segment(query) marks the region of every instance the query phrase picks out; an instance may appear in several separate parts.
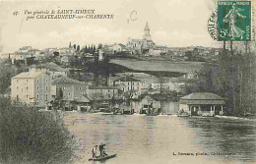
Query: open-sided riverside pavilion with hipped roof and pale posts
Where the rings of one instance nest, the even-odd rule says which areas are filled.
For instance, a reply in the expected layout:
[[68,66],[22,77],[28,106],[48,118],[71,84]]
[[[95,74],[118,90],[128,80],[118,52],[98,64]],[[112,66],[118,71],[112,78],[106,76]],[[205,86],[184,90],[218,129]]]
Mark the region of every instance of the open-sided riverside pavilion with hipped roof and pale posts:
[[179,101],[179,115],[215,116],[224,114],[224,98],[211,92],[194,92]]

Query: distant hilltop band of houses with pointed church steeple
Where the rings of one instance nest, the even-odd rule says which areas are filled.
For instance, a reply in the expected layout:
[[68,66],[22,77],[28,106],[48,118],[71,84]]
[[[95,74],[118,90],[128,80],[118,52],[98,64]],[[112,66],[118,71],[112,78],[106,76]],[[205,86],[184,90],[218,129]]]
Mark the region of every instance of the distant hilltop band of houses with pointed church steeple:
[[218,59],[220,48],[189,46],[189,47],[167,47],[158,45],[154,42],[150,34],[148,23],[144,28],[143,38],[128,38],[127,43],[113,44],[87,44],[83,47],[77,44],[69,43],[68,47],[54,47],[45,49],[34,49],[32,46],[25,46],[13,53],[1,54],[1,59],[11,59],[12,64],[31,64],[43,63],[47,60],[53,60],[61,65],[70,65],[74,58],[87,58],[101,61],[105,56],[109,58],[136,58],[150,59],[157,57],[168,59],[169,61],[215,61]]

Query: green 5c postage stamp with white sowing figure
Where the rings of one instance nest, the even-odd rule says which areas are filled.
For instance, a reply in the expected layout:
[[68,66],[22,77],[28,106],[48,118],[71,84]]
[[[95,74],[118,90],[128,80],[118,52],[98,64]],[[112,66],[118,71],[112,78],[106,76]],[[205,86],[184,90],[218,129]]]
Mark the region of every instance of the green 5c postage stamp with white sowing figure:
[[219,1],[218,2],[219,41],[251,40],[251,2]]

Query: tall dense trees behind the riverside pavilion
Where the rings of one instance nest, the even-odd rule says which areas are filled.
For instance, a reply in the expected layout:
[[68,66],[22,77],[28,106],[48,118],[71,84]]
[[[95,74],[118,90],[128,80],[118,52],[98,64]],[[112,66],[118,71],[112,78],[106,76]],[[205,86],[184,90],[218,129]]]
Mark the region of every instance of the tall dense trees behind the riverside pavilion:
[[228,51],[220,53],[215,63],[206,63],[199,81],[187,86],[187,94],[209,91],[224,97],[229,115],[256,113],[255,52]]

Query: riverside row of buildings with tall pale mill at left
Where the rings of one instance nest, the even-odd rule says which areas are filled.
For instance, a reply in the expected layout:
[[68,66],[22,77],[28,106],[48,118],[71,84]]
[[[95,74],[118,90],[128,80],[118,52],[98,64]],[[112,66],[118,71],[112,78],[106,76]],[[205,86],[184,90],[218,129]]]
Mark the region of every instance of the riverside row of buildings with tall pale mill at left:
[[69,78],[67,69],[51,62],[32,65],[28,72],[14,76],[10,87],[13,99],[38,108],[90,111],[96,110],[103,102],[120,108],[126,100],[139,101],[145,95],[154,97],[163,90],[178,93],[182,84],[166,80],[160,82],[144,73],[119,73],[109,77],[107,85],[95,85],[94,82]]

